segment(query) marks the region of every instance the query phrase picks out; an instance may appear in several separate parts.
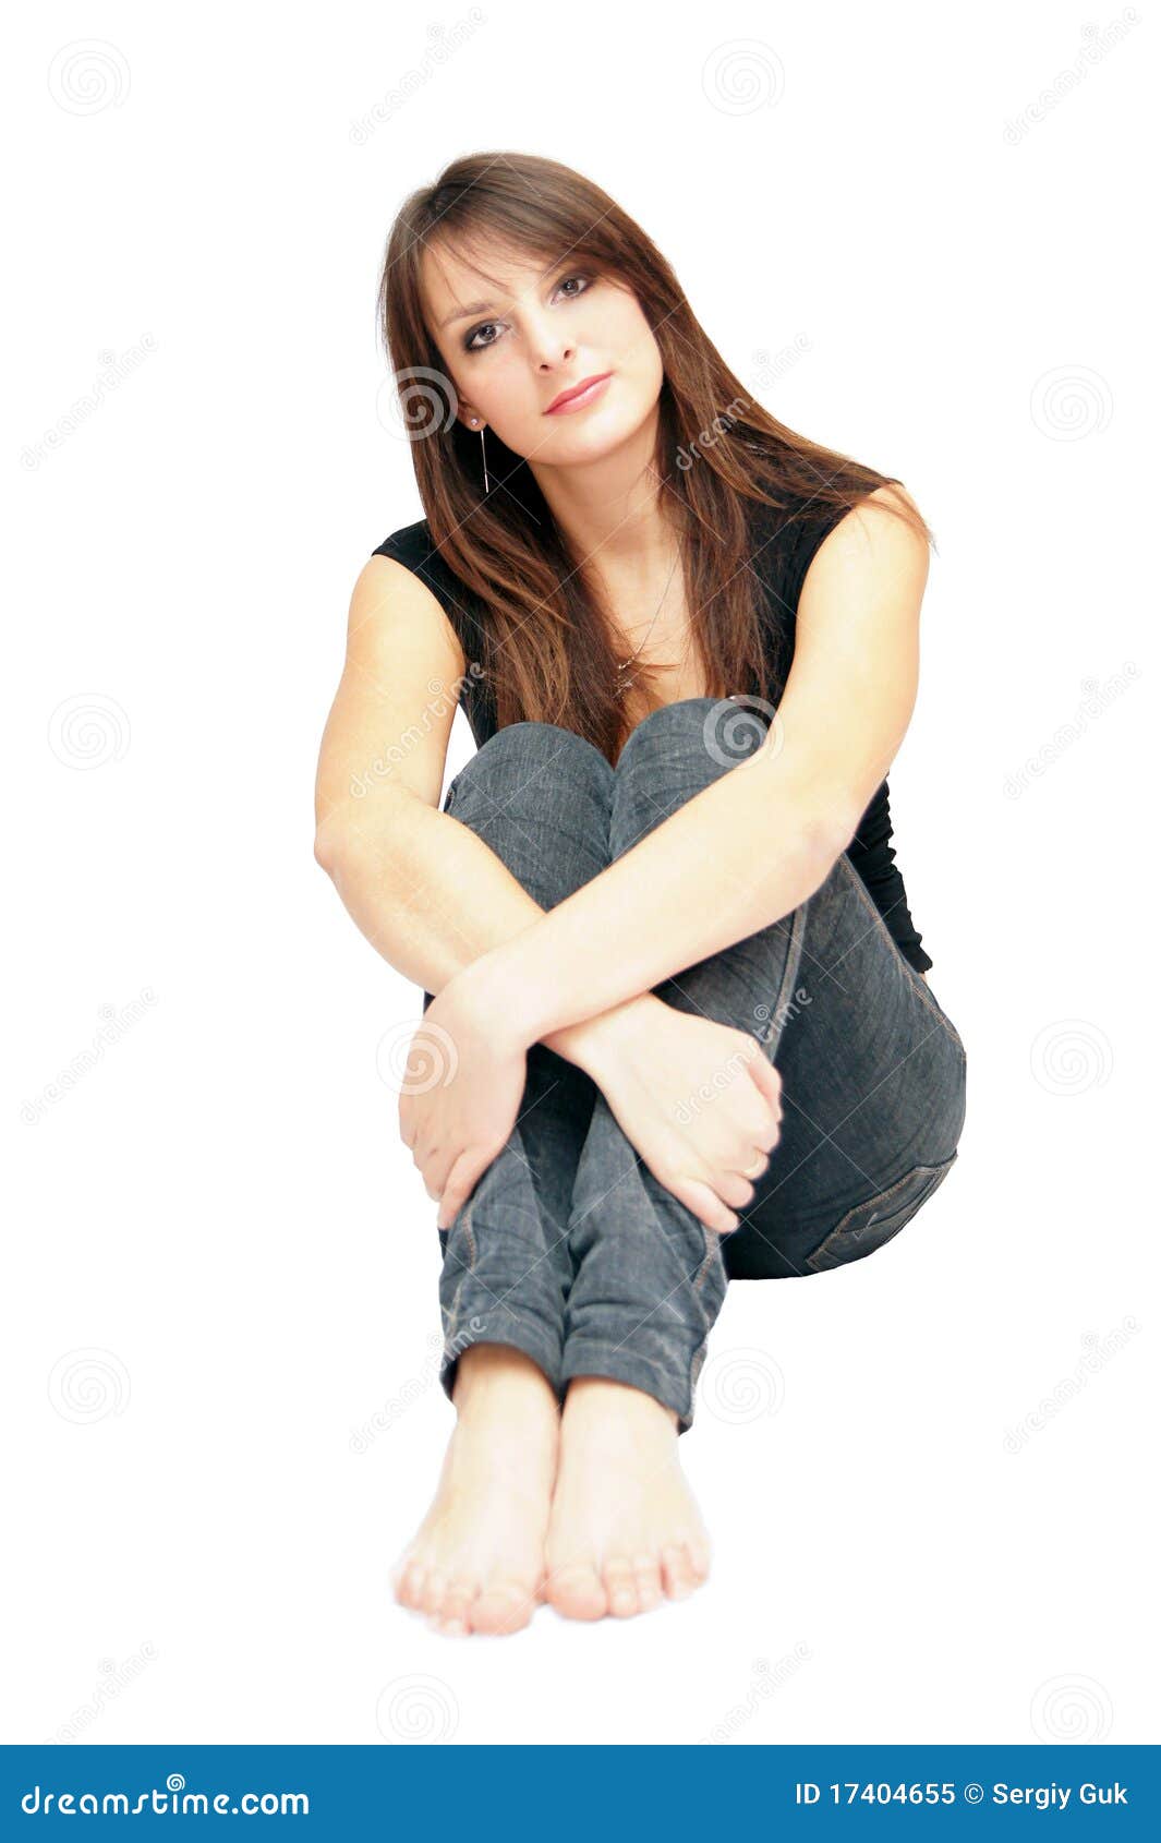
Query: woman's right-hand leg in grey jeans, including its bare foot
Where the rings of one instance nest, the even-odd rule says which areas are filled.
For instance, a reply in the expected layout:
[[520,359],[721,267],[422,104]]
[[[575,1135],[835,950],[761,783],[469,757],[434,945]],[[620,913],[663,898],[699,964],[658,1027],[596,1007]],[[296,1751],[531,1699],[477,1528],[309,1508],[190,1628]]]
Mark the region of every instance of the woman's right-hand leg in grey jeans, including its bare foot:
[[[739,759],[763,734],[733,730]],[[617,763],[610,857],[733,767],[721,741],[711,698],[665,706],[634,730]],[[781,1272],[791,1246],[805,1268],[789,1272],[872,1251],[942,1181],[964,1119],[962,1045],[846,855],[791,916],[654,990],[763,1043],[794,1133],[783,1119],[741,1227],[722,1238],[656,1183],[595,1098],[573,1187],[562,1366],[573,1382],[547,1548],[547,1594],[579,1618],[645,1609],[658,1557],[671,1592],[708,1570],[674,1449],[732,1251],[750,1277]]]

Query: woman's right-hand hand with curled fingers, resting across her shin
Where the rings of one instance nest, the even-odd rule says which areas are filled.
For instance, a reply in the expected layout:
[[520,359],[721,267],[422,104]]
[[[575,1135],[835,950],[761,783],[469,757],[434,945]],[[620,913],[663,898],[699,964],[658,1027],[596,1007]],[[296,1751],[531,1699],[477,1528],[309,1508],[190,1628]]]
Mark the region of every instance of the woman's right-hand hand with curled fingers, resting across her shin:
[[654,1178],[708,1229],[735,1229],[781,1135],[781,1076],[761,1043],[647,993],[593,1019],[575,1060]]

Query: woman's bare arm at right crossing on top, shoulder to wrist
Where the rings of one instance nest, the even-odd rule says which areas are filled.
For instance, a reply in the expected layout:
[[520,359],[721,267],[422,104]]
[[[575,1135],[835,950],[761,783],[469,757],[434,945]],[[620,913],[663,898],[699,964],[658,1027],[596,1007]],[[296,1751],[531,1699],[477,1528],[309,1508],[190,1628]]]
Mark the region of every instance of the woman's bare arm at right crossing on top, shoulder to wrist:
[[875,503],[892,490],[818,547],[763,746],[444,988],[512,1049],[649,992],[826,881],[916,702],[927,544]]

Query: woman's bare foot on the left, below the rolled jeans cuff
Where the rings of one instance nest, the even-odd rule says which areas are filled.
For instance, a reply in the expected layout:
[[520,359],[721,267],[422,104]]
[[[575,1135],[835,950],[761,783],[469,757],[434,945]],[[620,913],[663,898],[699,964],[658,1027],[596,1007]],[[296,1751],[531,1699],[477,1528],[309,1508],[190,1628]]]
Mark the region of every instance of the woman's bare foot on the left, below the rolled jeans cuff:
[[442,1633],[510,1633],[544,1598],[560,1403],[523,1351],[474,1344],[431,1509],[398,1557],[394,1598]]

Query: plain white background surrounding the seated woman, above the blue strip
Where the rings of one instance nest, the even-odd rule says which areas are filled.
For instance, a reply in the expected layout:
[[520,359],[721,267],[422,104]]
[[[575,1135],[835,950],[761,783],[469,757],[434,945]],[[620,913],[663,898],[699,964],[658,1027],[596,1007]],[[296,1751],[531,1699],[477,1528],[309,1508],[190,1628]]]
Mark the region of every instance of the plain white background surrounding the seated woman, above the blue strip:
[[[1043,4],[20,22],[6,1740],[1154,1738],[1154,48]],[[505,147],[610,190],[743,380],[805,335],[767,407],[934,527],[890,780],[969,1113],[894,1246],[732,1288],[710,1585],[448,1640],[387,1581],[452,1426],[376,1062],[420,993],[313,776],[420,516],[387,229]]]

